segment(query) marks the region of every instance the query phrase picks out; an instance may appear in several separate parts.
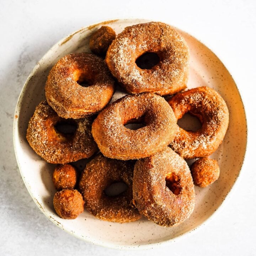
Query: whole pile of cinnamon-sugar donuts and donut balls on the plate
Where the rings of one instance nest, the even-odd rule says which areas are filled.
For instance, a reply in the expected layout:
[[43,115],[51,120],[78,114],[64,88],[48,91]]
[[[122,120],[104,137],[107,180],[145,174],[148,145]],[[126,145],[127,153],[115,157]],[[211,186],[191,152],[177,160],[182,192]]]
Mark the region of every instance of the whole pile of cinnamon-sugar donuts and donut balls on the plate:
[[[144,215],[176,226],[193,212],[194,185],[206,187],[219,177],[218,162],[208,156],[228,128],[226,103],[209,87],[185,90],[188,46],[165,23],[133,25],[117,36],[103,26],[92,34],[90,49],[53,66],[46,100],[28,123],[28,143],[57,164],[55,211],[75,219],[85,207],[111,222]],[[109,103],[117,85],[127,95]],[[187,112],[202,124],[195,132],[177,125]],[[61,130],[63,125],[71,130]],[[73,162],[86,158],[79,173]],[[198,160],[189,168],[187,159]],[[117,182],[126,190],[108,195],[106,189]]]

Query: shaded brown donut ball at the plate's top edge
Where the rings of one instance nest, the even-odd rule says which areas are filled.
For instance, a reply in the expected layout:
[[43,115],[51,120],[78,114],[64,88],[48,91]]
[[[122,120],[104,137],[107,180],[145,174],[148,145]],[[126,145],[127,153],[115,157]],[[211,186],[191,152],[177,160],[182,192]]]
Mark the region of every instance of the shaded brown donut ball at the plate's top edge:
[[90,49],[97,55],[105,55],[108,47],[116,38],[116,33],[111,27],[102,26],[90,38]]

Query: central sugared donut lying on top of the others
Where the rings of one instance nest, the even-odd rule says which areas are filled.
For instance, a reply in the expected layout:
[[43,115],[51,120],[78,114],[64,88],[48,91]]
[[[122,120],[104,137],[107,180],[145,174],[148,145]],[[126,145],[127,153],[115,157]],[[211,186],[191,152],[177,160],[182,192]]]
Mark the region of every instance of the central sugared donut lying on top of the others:
[[[127,123],[144,122],[137,130]],[[142,93],[126,95],[102,110],[92,124],[92,136],[108,158],[139,159],[163,150],[174,139],[174,113],[161,96]]]

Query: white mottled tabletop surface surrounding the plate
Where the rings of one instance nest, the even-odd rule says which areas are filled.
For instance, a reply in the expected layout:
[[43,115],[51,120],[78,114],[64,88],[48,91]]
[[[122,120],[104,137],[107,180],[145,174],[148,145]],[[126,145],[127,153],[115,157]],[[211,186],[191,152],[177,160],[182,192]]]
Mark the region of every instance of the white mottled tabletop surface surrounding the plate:
[[[128,3],[129,2],[129,3]],[[251,1],[1,1],[0,8],[0,255],[255,255],[256,175],[255,31]],[[12,122],[21,88],[43,54],[59,39],[102,20],[161,20],[196,36],[230,70],[249,126],[238,186],[213,220],[192,235],[149,251],[115,251],[80,241],[50,222],[18,172]]]

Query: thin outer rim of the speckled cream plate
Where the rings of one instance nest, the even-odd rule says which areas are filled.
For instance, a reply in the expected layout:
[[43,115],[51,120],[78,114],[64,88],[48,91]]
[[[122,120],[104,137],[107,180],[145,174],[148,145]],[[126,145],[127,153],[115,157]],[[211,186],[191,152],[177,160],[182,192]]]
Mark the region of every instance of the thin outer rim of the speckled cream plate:
[[[31,73],[28,75],[24,85],[22,86],[22,89],[21,89],[21,92],[20,92],[20,95],[18,96],[18,100],[17,100],[17,104],[16,104],[16,107],[15,107],[15,113],[14,113],[14,122],[13,122],[13,129],[12,129],[12,135],[13,135],[13,144],[14,144],[14,152],[15,152],[15,158],[16,158],[16,161],[17,161],[17,165],[18,165],[18,172],[20,173],[21,177],[22,177],[22,180],[27,188],[27,191],[28,193],[30,194],[30,196],[32,197],[34,203],[36,203],[37,207],[41,210],[41,212],[47,217],[47,219],[51,220],[51,222],[53,222],[55,225],[57,225],[59,228],[63,229],[66,233],[82,240],[82,241],[86,241],[86,242],[90,242],[91,244],[94,244],[94,245],[99,245],[99,246],[103,246],[103,247],[108,247],[108,248],[111,248],[111,249],[118,249],[118,250],[143,250],[143,249],[152,249],[153,247],[156,247],[156,246],[163,246],[163,245],[166,245],[166,244],[170,244],[170,243],[173,243],[173,242],[177,242],[177,241],[180,241],[181,239],[185,238],[185,236],[189,236],[191,235],[192,233],[198,231],[199,229],[201,229],[207,222],[210,222],[214,216],[216,216],[217,214],[220,213],[220,211],[223,209],[224,207],[224,202],[228,202],[228,200],[230,199],[230,195],[231,195],[231,192],[234,192],[236,190],[236,188],[238,187],[238,181],[240,181],[240,176],[241,174],[244,173],[244,164],[245,162],[247,161],[247,146],[248,146],[248,123],[247,123],[247,110],[246,110],[246,107],[244,105],[244,102],[242,101],[242,94],[234,80],[234,76],[230,73],[229,69],[227,68],[228,65],[226,65],[226,63],[224,63],[222,61],[221,58],[219,58],[219,55],[215,54],[216,51],[213,51],[212,50],[212,46],[208,47],[208,44],[204,43],[201,39],[197,39],[197,37],[194,36],[193,33],[191,32],[187,32],[187,31],[184,31],[184,30],[181,30],[180,28],[177,28],[176,26],[173,26],[175,28],[177,28],[178,30],[184,32],[184,33],[187,33],[189,34],[191,37],[195,38],[196,40],[198,40],[200,43],[202,43],[205,47],[207,47],[211,52],[213,52],[217,58],[220,60],[220,62],[222,62],[222,64],[224,65],[224,67],[226,68],[226,70],[228,71],[228,73],[230,74],[231,78],[233,79],[234,81],[234,84],[236,86],[236,89],[238,90],[238,93],[239,93],[239,96],[240,96],[240,101],[242,103],[242,107],[243,107],[243,110],[244,110],[244,114],[245,114],[245,134],[246,134],[246,143],[245,143],[245,153],[244,153],[244,156],[243,156],[243,159],[242,159],[242,162],[241,162],[241,169],[239,171],[239,174],[238,176],[236,176],[235,178],[235,181],[233,183],[233,186],[230,188],[229,192],[226,194],[224,200],[221,202],[221,204],[218,206],[217,209],[215,209],[215,211],[206,219],[204,220],[201,224],[199,224],[196,228],[190,230],[190,231],[187,231],[185,233],[182,233],[178,236],[176,236],[175,238],[172,238],[172,239],[169,239],[169,240],[164,240],[164,241],[160,241],[160,242],[152,242],[150,244],[143,244],[143,245],[116,245],[114,243],[111,243],[111,242],[101,242],[100,240],[95,240],[95,239],[92,239],[92,238],[83,238],[79,235],[77,235],[76,233],[74,234],[73,232],[71,232],[71,230],[68,230],[68,229],[64,229],[62,226],[60,226],[57,222],[57,220],[55,220],[52,216],[48,216],[47,213],[43,210],[42,206],[40,205],[40,203],[37,201],[37,199],[32,195],[31,191],[30,191],[30,188],[28,187],[28,184],[26,183],[25,181],[25,177],[23,177],[22,175],[22,171],[21,171],[21,166],[20,166],[20,162],[18,161],[18,155],[17,155],[17,150],[16,150],[16,144],[18,142],[18,138],[16,138],[16,130],[18,129],[17,125],[18,125],[18,118],[16,118],[16,115],[20,112],[20,103],[22,102],[22,99],[23,99],[23,91],[25,90],[27,84],[28,84],[28,81],[31,79],[31,77],[33,76],[34,72],[37,70],[37,68],[40,66],[40,61],[55,47],[57,46],[58,44],[62,44],[62,43],[65,43],[67,41],[69,41],[69,39],[71,39],[74,34],[76,33],[79,33],[80,31],[84,31],[85,29],[88,29],[90,27],[96,27],[96,26],[99,26],[101,25],[102,23],[106,23],[106,24],[109,24],[109,23],[113,23],[113,22],[117,22],[117,21],[137,21],[139,20],[140,23],[142,22],[149,22],[149,21],[155,21],[154,19],[144,19],[144,18],[117,18],[117,19],[114,19],[114,20],[103,20],[103,21],[100,21],[100,22],[95,22],[95,23],[92,23],[91,25],[88,25],[88,26],[84,26],[84,27],[81,27],[79,28],[78,30],[68,34],[67,36],[63,37],[62,39],[60,39],[58,42],[54,43],[52,47],[50,47],[47,52],[39,59],[39,61],[37,62],[37,64],[34,66],[34,68],[32,69]],[[158,20],[159,22],[159,20]],[[165,22],[166,23],[166,22]]]

